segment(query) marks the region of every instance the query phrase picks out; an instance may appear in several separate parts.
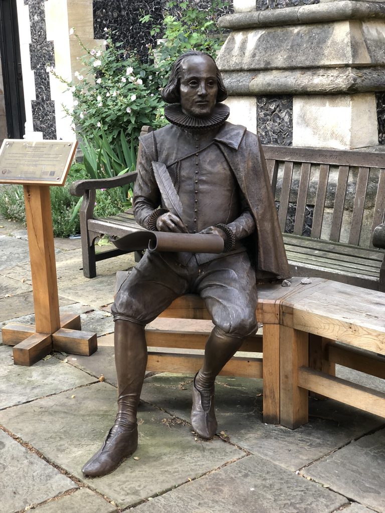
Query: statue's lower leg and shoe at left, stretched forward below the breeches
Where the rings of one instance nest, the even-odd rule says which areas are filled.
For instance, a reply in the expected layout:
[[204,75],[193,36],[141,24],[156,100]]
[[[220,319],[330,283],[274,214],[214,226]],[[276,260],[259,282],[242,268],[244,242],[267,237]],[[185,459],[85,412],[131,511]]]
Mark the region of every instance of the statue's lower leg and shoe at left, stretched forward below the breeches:
[[147,365],[144,327],[130,321],[115,321],[114,344],[118,414],[101,449],[82,468],[89,477],[112,472],[138,447],[137,409]]

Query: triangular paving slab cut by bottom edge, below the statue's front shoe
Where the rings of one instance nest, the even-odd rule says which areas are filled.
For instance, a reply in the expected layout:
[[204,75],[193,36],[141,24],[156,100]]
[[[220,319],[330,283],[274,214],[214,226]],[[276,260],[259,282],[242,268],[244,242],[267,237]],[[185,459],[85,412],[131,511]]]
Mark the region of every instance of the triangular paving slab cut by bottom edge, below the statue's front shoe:
[[115,513],[117,508],[95,492],[81,488],[71,495],[38,506],[34,511],[36,513]]

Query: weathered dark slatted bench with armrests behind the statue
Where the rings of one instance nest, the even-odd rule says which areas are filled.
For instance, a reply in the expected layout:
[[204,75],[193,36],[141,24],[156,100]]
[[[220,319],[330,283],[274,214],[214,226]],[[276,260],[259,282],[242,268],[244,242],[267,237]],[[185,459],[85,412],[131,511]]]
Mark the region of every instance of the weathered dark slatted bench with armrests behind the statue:
[[[293,275],[385,291],[385,234],[377,238],[382,249],[372,244],[373,230],[384,221],[385,153],[282,146],[263,150]],[[123,253],[113,249],[95,255],[98,236],[143,229],[130,211],[93,218],[95,189],[133,183],[136,177],[133,172],[71,185],[72,194],[84,195],[80,220],[83,272],[88,278],[96,275],[97,261]]]

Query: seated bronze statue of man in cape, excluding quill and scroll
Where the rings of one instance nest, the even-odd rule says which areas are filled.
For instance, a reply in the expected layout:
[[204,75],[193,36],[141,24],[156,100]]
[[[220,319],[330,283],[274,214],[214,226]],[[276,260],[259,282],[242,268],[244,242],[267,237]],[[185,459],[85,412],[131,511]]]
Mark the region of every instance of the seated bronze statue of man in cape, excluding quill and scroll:
[[[215,378],[257,329],[256,278],[290,275],[261,145],[243,126],[226,122],[229,109],[220,102],[227,92],[213,58],[196,51],[181,55],[162,96],[170,104],[170,124],[141,138],[135,218],[149,230],[220,235],[224,251],[146,251],[120,287],[111,308],[118,414],[102,448],[82,469],[90,477],[112,472],[137,448],[145,325],[182,294],[204,298],[215,327],[192,385],[191,424],[201,437],[213,438]],[[164,208],[153,163],[166,165],[183,206],[181,218]]]

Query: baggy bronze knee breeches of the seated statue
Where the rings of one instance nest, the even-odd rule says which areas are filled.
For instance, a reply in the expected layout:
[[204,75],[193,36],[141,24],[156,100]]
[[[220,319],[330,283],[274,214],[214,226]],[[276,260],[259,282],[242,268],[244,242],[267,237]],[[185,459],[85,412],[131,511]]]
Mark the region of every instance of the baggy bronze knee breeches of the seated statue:
[[121,285],[111,312],[114,319],[146,325],[175,299],[197,293],[213,323],[225,333],[245,337],[257,330],[255,271],[246,252],[182,265],[173,253],[145,253]]

